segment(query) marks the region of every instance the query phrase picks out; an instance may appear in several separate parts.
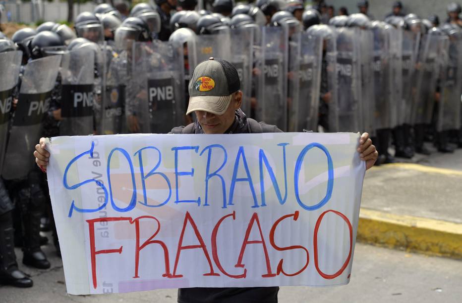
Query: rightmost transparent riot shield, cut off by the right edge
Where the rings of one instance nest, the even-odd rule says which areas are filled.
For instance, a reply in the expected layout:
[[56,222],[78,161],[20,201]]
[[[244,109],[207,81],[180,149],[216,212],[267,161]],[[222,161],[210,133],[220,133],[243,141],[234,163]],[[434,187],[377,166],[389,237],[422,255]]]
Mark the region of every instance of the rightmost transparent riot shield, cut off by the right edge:
[[448,53],[442,56],[440,101],[437,130],[459,130],[461,128],[462,93],[462,32],[449,36]]

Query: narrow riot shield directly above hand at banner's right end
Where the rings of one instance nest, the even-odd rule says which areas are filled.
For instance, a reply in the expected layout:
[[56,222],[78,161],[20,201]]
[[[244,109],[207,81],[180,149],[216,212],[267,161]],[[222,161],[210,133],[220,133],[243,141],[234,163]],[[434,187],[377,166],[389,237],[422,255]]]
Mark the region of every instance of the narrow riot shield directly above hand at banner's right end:
[[359,46],[359,61],[361,64],[361,94],[360,94],[360,109],[361,123],[360,131],[367,131],[370,135],[375,135],[373,126],[373,117],[375,113],[374,102],[374,34],[369,29],[355,28],[356,39]]

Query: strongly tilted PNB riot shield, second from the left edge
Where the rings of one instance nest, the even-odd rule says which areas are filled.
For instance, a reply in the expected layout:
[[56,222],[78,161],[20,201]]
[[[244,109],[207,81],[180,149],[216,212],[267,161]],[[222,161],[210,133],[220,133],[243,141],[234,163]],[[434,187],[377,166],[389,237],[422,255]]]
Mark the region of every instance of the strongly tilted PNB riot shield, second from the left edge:
[[35,165],[31,155],[42,133],[60,62],[61,56],[56,55],[25,66],[1,173],[4,179],[24,178]]

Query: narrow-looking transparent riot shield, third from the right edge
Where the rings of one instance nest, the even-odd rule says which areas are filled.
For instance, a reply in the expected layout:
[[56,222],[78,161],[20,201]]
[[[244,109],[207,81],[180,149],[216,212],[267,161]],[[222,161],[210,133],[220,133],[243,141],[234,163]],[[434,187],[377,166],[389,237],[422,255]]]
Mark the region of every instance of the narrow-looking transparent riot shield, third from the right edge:
[[412,99],[416,93],[416,63],[420,34],[402,32],[402,101],[398,108],[398,124],[412,124]]

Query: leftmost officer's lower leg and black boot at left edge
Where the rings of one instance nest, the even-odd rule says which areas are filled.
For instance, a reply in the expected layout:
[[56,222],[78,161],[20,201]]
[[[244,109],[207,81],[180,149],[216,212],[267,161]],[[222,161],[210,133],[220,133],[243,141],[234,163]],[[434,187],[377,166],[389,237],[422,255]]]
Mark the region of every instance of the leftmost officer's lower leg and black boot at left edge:
[[0,215],[0,284],[32,287],[32,280],[18,269],[13,234],[11,212]]

